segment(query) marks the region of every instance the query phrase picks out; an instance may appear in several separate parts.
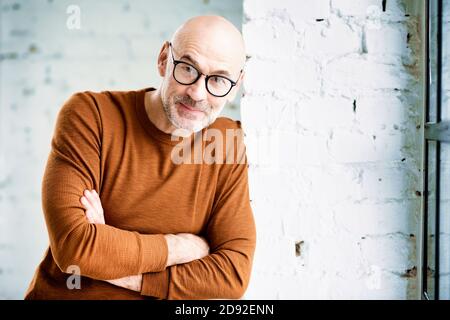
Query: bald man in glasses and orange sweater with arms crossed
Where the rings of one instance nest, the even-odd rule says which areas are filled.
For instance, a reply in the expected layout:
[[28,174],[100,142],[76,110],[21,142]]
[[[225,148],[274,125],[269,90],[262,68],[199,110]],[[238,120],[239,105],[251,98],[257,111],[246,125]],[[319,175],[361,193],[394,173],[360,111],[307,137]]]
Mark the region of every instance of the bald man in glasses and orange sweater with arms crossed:
[[42,184],[50,246],[26,299],[244,294],[256,232],[242,142],[218,144],[214,163],[174,161],[180,141],[200,141],[204,154],[207,132],[240,130],[218,115],[244,62],[230,22],[196,17],[163,44],[157,90],[83,92],[64,104]]

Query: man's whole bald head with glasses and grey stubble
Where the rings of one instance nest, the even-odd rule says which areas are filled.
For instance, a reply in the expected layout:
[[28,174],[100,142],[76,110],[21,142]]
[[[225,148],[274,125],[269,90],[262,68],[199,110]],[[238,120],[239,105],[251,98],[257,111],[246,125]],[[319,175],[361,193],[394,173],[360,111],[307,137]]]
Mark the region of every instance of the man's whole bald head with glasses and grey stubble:
[[225,18],[199,16],[179,27],[171,44],[165,41],[158,55],[163,79],[153,97],[162,107],[149,117],[164,132],[198,132],[236,97],[245,75],[244,40]]

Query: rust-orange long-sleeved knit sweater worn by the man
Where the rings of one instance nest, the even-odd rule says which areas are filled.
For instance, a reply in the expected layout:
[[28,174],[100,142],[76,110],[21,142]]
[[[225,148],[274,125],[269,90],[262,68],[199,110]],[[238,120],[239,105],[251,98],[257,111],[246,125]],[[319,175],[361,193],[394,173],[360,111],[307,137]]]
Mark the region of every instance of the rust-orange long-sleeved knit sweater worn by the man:
[[[174,164],[178,141],[149,120],[148,90],[77,93],[60,110],[42,182],[50,246],[26,299],[228,299],[245,292],[256,244],[245,153],[237,164]],[[225,132],[240,123],[218,118],[210,128]],[[85,189],[99,193],[105,225],[87,221]],[[210,254],[165,268],[163,234],[181,232],[204,236]],[[71,265],[80,268],[81,289],[67,287]],[[143,274],[140,293],[102,281],[136,274]]]

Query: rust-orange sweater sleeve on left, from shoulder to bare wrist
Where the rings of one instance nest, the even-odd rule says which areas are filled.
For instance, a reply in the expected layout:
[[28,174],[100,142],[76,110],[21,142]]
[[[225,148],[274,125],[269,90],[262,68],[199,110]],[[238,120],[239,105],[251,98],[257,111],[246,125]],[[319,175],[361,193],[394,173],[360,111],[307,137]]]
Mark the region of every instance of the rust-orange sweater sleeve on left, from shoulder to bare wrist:
[[91,224],[80,197],[100,190],[102,121],[94,96],[77,93],[59,111],[42,182],[42,208],[50,248],[63,272],[76,265],[99,280],[165,270],[162,234],[139,234]]

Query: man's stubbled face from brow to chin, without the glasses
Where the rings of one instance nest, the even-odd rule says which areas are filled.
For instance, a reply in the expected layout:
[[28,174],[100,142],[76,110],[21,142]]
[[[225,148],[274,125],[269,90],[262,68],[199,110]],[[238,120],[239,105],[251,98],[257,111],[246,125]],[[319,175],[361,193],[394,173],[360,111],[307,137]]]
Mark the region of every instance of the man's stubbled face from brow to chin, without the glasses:
[[[166,49],[167,51],[173,50],[173,52],[167,54],[166,57],[167,68],[161,90],[164,112],[168,120],[176,128],[188,130],[190,132],[200,131],[213,123],[219,116],[226,102],[231,101],[234,98],[237,81],[231,80],[230,72],[227,71],[226,68],[221,68],[222,70],[217,71],[217,73],[214,72],[214,75],[224,76],[231,80],[230,92],[224,97],[216,97],[206,88],[205,79],[208,77],[209,83],[212,83],[212,81],[216,81],[217,78],[205,76],[204,72],[201,70],[218,70],[217,68],[208,68],[208,66],[214,65],[217,61],[208,59],[199,52],[200,50],[186,50],[184,55],[180,55],[181,53],[171,49],[171,46],[167,46]],[[206,67],[202,68],[200,66],[200,61],[202,61]],[[177,63],[180,62],[192,66],[192,72],[198,72],[197,81],[186,85],[181,84],[179,82],[180,79],[174,78],[174,68],[180,68],[180,65],[177,66]],[[240,75],[241,73],[238,75],[239,78]],[[210,90],[211,88],[212,87],[210,87]]]

